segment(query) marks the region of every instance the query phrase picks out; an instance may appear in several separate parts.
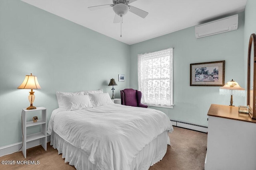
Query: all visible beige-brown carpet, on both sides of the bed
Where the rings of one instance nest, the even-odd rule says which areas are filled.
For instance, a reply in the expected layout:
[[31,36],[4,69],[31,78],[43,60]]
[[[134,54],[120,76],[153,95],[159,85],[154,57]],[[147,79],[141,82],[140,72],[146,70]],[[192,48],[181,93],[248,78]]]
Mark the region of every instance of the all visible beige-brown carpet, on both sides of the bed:
[[[171,146],[168,146],[164,158],[150,167],[150,170],[204,170],[207,135],[197,131],[174,127],[169,133]],[[27,158],[22,152],[0,157],[0,161],[24,160],[39,161],[39,164],[30,165],[2,165],[0,170],[74,170],[74,166],[65,164],[62,154],[47,144],[47,151],[41,146],[27,149]]]

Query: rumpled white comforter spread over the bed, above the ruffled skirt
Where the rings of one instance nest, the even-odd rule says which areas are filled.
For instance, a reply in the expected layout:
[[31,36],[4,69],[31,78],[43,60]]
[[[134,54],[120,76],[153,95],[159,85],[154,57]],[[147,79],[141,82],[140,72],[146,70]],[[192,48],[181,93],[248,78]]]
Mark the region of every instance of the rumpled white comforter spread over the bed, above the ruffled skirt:
[[48,133],[83,150],[100,170],[127,170],[133,158],[164,131],[172,132],[161,111],[119,104],[52,112]]

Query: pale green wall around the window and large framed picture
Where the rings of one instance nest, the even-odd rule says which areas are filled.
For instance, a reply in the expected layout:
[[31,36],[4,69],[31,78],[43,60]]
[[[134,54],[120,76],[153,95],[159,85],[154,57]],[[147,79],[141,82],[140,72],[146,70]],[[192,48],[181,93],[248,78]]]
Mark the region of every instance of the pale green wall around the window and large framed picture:
[[[235,31],[196,39],[193,26],[130,45],[130,88],[138,88],[138,54],[174,47],[174,109],[153,108],[163,111],[170,119],[207,126],[210,105],[228,105],[230,96],[219,95],[220,87],[190,86],[190,64],[225,60],[225,82],[234,79],[245,88],[244,12],[238,18]],[[235,106],[245,104],[244,97],[233,96],[233,100]]]

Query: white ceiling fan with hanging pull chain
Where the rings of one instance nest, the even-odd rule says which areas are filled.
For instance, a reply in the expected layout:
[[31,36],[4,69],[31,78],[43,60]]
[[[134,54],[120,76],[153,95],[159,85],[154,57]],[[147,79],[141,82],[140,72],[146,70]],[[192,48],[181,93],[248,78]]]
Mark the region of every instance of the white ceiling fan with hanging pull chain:
[[[89,10],[98,10],[105,7],[113,7],[114,12],[116,13],[114,17],[113,23],[119,23],[121,21],[121,32],[122,32],[122,20],[123,16],[128,12],[132,12],[141,18],[145,18],[148,15],[148,12],[136,8],[134,6],[129,5],[130,3],[137,1],[137,0],[113,0],[113,4],[106,4],[106,5],[99,5],[99,6],[90,6],[88,7]],[[122,37],[122,33],[120,35]]]

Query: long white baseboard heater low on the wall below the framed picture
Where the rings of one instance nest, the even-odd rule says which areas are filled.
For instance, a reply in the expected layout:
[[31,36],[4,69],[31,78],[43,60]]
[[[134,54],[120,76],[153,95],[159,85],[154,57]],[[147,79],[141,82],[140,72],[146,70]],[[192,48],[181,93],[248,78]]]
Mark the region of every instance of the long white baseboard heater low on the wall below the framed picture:
[[173,126],[183,127],[186,129],[191,129],[194,131],[200,131],[200,132],[204,132],[204,133],[206,133],[208,131],[207,126],[198,125],[198,124],[194,124],[194,123],[188,123],[185,121],[178,121],[178,120],[174,120],[174,119],[170,119],[170,121],[172,122]]

